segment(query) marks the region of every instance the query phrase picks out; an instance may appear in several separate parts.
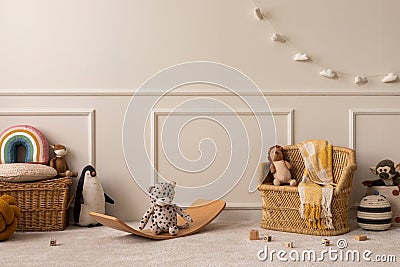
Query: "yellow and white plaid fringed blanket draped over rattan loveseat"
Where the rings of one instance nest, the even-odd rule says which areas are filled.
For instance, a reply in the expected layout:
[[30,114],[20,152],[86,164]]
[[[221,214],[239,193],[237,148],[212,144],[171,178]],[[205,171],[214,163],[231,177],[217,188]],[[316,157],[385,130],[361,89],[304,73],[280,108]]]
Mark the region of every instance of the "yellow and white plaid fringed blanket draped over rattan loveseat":
[[299,143],[305,170],[299,184],[300,215],[313,229],[333,229],[331,202],[333,195],[332,145],[326,140]]

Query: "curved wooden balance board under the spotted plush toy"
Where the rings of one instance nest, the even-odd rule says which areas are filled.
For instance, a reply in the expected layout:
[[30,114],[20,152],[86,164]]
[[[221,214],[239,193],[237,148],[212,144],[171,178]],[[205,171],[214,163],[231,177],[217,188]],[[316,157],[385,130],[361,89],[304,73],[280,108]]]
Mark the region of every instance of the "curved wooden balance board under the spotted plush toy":
[[[90,216],[92,216],[97,222],[101,223],[102,225],[106,225],[119,231],[150,239],[163,240],[197,233],[205,226],[207,226],[210,222],[212,222],[225,208],[225,205],[226,203],[223,200],[196,200],[190,205],[190,207],[185,210],[186,213],[189,214],[190,217],[192,217],[193,222],[190,223],[187,228],[179,229],[179,233],[174,236],[170,235],[169,233],[161,233],[156,235],[152,233],[150,229],[136,230],[116,217],[104,215],[101,213],[91,212]],[[183,225],[184,223],[185,220],[178,215],[178,225]]]

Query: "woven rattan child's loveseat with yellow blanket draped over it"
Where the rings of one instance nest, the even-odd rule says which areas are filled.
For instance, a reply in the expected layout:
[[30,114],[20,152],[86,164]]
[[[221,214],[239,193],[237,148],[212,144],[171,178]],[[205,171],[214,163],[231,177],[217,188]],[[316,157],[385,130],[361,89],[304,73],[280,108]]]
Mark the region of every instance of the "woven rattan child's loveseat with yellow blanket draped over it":
[[[297,146],[284,146],[284,157],[292,164],[292,177],[300,182],[304,172],[304,162]],[[261,163],[260,177],[265,177],[265,166]],[[291,186],[274,186],[268,180],[258,190],[262,197],[261,227],[270,230],[293,232],[309,235],[332,236],[350,231],[348,222],[349,197],[352,179],[356,170],[355,152],[349,148],[333,147],[333,176],[337,183],[332,198],[333,230],[311,229],[300,217],[300,197],[298,188]]]

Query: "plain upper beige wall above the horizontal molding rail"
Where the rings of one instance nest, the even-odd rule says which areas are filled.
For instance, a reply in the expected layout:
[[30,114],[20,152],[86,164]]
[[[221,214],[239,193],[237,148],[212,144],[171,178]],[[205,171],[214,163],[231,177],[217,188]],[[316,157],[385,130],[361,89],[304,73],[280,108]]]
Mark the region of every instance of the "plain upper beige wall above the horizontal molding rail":
[[248,74],[265,90],[388,90],[371,79],[329,81],[296,52],[354,74],[400,71],[396,0],[258,0],[301,51],[270,41],[250,0],[0,1],[0,85],[8,89],[138,88],[173,64],[211,60]]

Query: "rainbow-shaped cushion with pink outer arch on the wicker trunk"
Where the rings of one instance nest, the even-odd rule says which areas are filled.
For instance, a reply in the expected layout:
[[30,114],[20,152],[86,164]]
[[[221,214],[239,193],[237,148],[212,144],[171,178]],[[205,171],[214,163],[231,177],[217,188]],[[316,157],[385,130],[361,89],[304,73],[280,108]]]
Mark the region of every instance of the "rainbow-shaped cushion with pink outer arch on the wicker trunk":
[[0,134],[0,164],[16,163],[20,146],[25,147],[25,162],[47,164],[49,162],[49,144],[46,137],[29,125],[16,125]]

